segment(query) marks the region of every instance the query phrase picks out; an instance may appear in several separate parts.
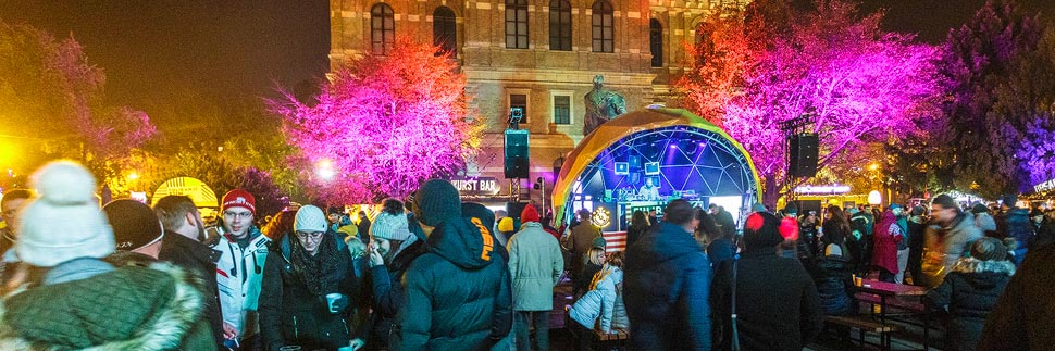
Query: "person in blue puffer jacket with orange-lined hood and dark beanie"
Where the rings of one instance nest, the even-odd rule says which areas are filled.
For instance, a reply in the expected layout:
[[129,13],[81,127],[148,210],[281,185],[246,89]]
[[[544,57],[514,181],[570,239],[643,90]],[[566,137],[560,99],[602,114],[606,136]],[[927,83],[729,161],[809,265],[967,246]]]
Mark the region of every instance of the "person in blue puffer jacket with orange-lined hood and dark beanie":
[[405,302],[396,316],[401,349],[487,350],[512,325],[509,271],[494,252],[494,236],[462,217],[449,181],[425,181],[414,198],[427,251],[404,278]]

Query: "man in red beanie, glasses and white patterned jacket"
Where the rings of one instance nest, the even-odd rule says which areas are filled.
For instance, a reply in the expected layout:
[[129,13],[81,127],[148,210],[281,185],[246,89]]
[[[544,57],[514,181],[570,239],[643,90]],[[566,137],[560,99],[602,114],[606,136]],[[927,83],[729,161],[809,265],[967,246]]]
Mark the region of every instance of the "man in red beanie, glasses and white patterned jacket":
[[257,200],[248,191],[234,189],[224,195],[220,215],[223,234],[213,249],[221,252],[216,290],[226,344],[236,351],[260,350],[257,300],[270,240],[253,225]]

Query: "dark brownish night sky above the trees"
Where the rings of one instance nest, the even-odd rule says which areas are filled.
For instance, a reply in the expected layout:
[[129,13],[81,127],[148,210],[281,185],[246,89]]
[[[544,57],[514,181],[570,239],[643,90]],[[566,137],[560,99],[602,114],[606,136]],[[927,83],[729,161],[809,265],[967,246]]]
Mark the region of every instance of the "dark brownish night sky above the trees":
[[[618,1],[618,0],[617,0]],[[866,0],[886,8],[888,29],[939,42],[984,0]],[[1022,0],[1055,13],[1055,0]],[[218,101],[274,96],[328,68],[327,0],[0,1],[0,18],[73,35],[107,73],[111,102],[136,106],[177,89]],[[150,111],[147,111],[148,113]]]

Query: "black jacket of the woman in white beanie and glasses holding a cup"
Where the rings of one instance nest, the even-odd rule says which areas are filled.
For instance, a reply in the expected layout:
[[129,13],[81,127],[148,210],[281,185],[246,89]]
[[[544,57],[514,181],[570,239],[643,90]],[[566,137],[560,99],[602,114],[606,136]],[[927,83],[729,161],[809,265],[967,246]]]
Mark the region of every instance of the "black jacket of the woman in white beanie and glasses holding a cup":
[[[290,262],[289,240],[297,240],[295,236],[287,235],[269,243],[258,306],[265,350],[277,351],[287,344],[301,346],[305,350],[336,350],[358,337],[349,330],[352,309],[331,314],[325,297],[332,292],[344,293],[348,299],[359,297],[351,254],[337,243],[342,239],[335,238],[333,233],[326,233],[323,238],[320,250],[322,246],[335,246],[337,259],[333,265],[321,267],[322,275],[337,281],[337,291],[319,296],[310,292],[302,273],[297,272]],[[349,301],[349,305],[355,304],[356,301]]]

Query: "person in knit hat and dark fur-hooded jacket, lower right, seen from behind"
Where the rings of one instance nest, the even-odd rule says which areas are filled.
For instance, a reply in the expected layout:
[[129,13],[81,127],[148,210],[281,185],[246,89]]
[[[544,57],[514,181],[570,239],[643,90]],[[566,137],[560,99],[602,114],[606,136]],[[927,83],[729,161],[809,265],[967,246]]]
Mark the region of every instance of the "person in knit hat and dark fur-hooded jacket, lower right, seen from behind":
[[951,317],[945,328],[948,350],[976,349],[985,318],[1015,274],[1007,247],[1000,239],[978,239],[970,252],[969,258],[956,261],[942,285],[927,293],[931,308]]

